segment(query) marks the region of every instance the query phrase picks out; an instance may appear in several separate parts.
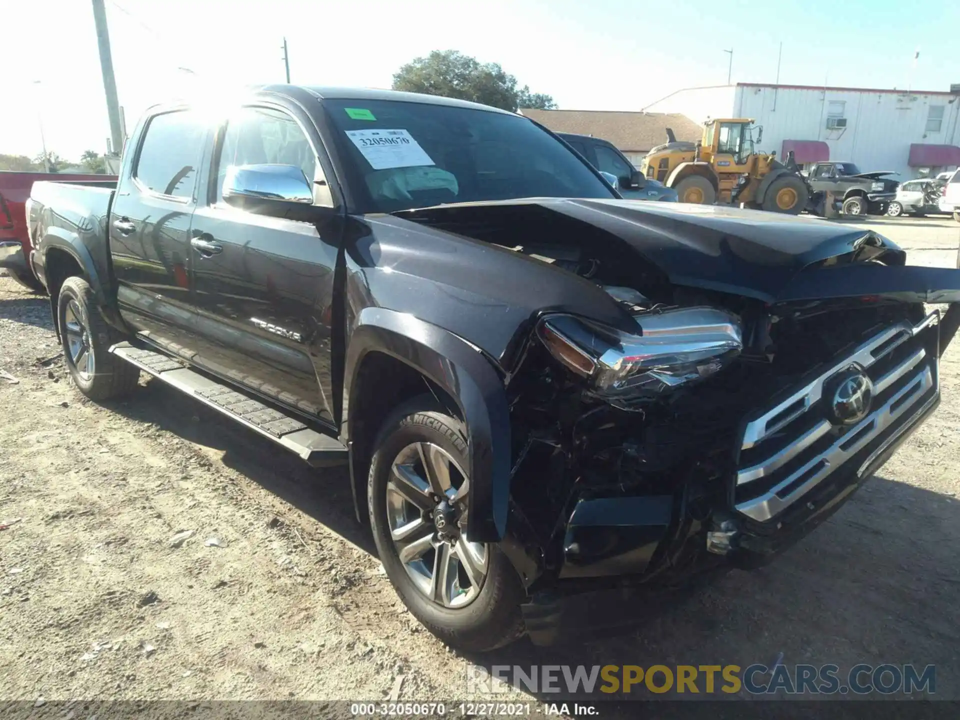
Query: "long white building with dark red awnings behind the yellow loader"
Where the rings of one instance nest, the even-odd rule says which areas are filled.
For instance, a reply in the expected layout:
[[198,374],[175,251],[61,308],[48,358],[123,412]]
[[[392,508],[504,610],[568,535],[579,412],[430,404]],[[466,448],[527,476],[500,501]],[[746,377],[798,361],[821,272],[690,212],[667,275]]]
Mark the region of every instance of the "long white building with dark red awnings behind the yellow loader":
[[763,126],[758,149],[798,163],[846,160],[901,180],[960,166],[957,92],[737,83],[691,87],[643,108],[708,117],[749,117]]

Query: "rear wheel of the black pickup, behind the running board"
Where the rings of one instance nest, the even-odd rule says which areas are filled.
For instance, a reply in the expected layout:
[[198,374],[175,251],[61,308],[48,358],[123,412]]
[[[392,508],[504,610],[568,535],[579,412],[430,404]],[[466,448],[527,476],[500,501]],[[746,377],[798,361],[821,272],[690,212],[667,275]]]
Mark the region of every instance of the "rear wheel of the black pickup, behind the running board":
[[67,277],[60,286],[57,324],[67,370],[81,393],[106,400],[136,387],[140,371],[108,352],[123,338],[100,315],[83,277]]

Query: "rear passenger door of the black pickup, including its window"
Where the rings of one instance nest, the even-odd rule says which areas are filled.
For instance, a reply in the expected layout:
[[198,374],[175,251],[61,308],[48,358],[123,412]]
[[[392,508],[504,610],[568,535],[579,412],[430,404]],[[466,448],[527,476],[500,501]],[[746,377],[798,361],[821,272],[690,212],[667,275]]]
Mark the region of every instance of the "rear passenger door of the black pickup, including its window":
[[117,300],[132,327],[180,350],[192,326],[190,222],[209,131],[190,109],[147,120],[125,164],[108,236]]

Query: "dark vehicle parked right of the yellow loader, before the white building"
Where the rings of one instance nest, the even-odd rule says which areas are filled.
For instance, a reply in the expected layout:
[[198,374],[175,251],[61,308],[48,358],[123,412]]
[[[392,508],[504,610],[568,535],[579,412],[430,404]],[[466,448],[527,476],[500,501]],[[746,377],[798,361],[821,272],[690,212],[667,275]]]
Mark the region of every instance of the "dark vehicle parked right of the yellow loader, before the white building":
[[897,180],[886,178],[891,171],[861,173],[852,162],[817,162],[807,174],[813,196],[810,206],[818,207],[825,193],[842,202],[844,215],[883,215],[887,204],[897,197]]

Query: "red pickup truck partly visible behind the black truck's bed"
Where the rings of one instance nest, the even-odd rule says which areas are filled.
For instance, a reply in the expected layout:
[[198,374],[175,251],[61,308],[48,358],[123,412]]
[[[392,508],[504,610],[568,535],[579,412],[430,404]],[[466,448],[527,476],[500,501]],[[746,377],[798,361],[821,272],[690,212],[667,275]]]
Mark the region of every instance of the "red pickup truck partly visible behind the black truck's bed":
[[0,172],[0,268],[29,290],[44,292],[30,263],[30,235],[24,204],[37,180],[70,182],[104,180],[116,182],[115,175],[83,175],[77,173]]

